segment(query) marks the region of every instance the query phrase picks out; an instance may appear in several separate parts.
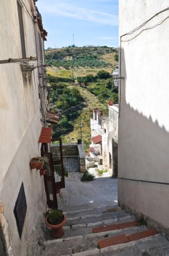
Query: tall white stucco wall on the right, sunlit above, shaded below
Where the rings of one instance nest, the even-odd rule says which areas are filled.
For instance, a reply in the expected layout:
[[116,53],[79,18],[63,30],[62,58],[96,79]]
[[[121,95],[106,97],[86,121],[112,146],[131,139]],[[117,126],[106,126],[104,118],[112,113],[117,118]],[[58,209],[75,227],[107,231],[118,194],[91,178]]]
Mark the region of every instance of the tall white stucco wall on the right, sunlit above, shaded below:
[[[166,7],[168,0],[119,0],[119,36]],[[121,42],[119,51],[125,78],[121,79],[119,178],[169,183],[168,15],[164,11],[121,38],[129,41]],[[166,227],[168,193],[168,185],[119,179],[119,203]]]

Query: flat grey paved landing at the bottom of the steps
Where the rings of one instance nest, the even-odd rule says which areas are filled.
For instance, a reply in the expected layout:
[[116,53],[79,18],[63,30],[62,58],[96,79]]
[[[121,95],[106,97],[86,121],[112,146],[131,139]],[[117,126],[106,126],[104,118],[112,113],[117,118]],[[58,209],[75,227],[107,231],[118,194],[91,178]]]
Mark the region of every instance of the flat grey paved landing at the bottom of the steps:
[[98,178],[81,182],[80,172],[70,172],[66,188],[58,197],[58,207],[65,212],[117,206],[117,179]]

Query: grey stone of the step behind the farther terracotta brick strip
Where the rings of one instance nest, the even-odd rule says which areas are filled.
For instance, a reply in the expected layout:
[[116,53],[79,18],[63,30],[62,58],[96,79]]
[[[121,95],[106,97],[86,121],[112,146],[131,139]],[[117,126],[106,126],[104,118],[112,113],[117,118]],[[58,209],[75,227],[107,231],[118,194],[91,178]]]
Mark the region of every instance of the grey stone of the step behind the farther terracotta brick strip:
[[[97,219],[96,219],[97,221]],[[113,220],[105,220],[101,222],[92,222],[87,224],[75,224],[70,226],[64,226],[64,236],[63,238],[70,236],[80,236],[84,234],[93,233],[93,228],[98,226],[105,226],[107,224],[121,224],[123,222],[135,221],[135,216],[125,216],[121,218],[115,218]]]

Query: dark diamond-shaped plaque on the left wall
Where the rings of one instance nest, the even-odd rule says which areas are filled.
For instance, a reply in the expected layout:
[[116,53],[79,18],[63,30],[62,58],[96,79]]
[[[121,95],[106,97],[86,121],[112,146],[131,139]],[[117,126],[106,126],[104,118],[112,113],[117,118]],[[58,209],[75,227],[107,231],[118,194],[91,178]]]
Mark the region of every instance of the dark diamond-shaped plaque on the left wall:
[[16,223],[17,223],[17,230],[19,232],[19,238],[21,238],[23,224],[25,221],[26,210],[27,210],[27,204],[25,199],[25,191],[24,191],[23,183],[21,183],[21,188],[19,190],[17,201],[15,203],[15,207],[13,210]]

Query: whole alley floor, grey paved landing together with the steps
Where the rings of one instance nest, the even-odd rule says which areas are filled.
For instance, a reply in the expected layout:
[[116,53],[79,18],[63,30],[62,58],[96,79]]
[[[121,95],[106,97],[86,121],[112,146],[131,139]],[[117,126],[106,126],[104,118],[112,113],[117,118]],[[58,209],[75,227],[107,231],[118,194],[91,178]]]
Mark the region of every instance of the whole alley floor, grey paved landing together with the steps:
[[62,238],[44,242],[43,256],[169,255],[169,243],[117,204],[117,179],[81,182],[79,172],[66,178],[58,206],[67,222]]

